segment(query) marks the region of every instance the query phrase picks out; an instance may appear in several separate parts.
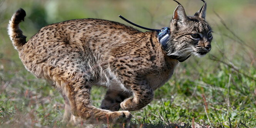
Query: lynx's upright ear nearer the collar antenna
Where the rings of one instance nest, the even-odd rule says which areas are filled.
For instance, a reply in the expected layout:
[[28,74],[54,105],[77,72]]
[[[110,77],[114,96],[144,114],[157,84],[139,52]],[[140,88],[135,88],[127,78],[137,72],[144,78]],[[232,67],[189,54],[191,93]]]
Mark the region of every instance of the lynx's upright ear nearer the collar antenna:
[[182,5],[179,4],[174,10],[173,20],[177,20],[179,22],[184,22],[185,20],[187,20],[187,15]]

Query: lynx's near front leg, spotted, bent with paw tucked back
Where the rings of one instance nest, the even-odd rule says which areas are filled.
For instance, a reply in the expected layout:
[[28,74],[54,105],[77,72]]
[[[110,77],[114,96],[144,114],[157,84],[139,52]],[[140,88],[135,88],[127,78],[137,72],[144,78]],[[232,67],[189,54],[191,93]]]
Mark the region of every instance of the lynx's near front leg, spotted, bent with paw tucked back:
[[[119,58],[119,57],[114,57]],[[141,65],[141,64],[140,64]],[[144,73],[138,73],[138,69],[142,69],[134,60],[124,59],[113,59],[110,63],[112,69],[114,69],[114,74],[121,81],[127,90],[132,92],[132,97],[124,100],[120,103],[122,110],[135,111],[143,108],[149,104],[153,97],[154,91],[151,86],[144,80]]]

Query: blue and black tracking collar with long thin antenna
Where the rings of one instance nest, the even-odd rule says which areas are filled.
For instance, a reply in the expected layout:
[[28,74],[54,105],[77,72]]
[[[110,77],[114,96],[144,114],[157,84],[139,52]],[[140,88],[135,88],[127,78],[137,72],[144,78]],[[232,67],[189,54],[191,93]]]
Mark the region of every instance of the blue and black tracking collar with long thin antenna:
[[[127,20],[126,18],[122,17],[121,15],[119,15],[120,18],[122,18],[123,20],[125,20],[128,23],[131,23],[132,25],[142,28],[142,29],[146,29],[149,31],[156,31],[157,32],[157,38],[158,38],[158,42],[161,44],[162,48],[164,49],[164,51],[166,53],[168,53],[168,48],[167,48],[167,42],[170,40],[170,28],[169,27],[163,27],[162,29],[152,29],[152,28],[146,28],[146,27],[142,27],[140,25],[137,25],[135,23],[132,23],[131,21]],[[178,56],[175,55],[170,55],[169,57],[171,57],[172,59],[176,59],[179,62],[184,62],[185,60],[187,60],[190,56],[186,57],[186,58],[180,58]]]

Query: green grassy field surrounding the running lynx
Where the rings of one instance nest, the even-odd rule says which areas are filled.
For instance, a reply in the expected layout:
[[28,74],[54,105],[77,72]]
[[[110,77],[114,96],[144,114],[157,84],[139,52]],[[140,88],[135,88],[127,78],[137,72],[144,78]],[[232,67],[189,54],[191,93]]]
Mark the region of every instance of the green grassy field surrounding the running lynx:
[[[187,15],[193,15],[202,6],[200,0],[181,3]],[[230,124],[232,128],[256,127],[256,2],[207,0],[207,5],[206,18],[214,30],[211,52],[206,57],[191,57],[180,63],[172,78],[155,91],[154,100],[142,110],[132,112],[130,126],[169,128],[168,125],[189,123],[191,127],[209,127],[208,115],[213,127],[229,128]],[[47,24],[74,18],[103,18],[127,24],[117,17],[123,15],[139,25],[161,28],[168,26],[176,3],[172,0],[0,1],[0,127],[3,128],[60,127],[64,113],[64,100],[58,90],[25,70],[8,38],[8,20],[19,7],[27,12],[20,26],[30,38]],[[100,106],[102,92],[104,88],[92,89],[95,106]]]

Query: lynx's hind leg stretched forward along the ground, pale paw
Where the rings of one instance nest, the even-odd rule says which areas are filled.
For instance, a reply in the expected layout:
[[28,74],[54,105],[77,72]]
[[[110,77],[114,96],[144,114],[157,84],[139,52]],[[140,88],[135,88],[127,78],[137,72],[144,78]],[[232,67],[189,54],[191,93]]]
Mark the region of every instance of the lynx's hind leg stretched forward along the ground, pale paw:
[[66,95],[69,99],[70,111],[74,115],[76,124],[95,123],[126,123],[131,120],[129,111],[109,111],[96,108],[90,101],[91,84],[88,77],[76,76],[70,82],[64,84],[66,87]]

